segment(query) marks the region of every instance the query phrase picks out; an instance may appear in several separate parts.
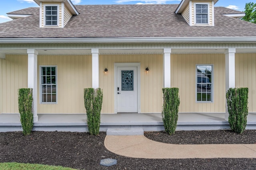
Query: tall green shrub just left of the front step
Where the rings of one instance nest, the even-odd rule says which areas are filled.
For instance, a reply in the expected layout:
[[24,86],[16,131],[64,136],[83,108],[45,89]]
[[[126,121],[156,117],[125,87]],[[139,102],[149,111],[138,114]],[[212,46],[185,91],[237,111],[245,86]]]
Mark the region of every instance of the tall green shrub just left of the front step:
[[84,89],[84,107],[87,115],[87,126],[91,135],[100,132],[100,111],[102,108],[103,94],[100,88]]

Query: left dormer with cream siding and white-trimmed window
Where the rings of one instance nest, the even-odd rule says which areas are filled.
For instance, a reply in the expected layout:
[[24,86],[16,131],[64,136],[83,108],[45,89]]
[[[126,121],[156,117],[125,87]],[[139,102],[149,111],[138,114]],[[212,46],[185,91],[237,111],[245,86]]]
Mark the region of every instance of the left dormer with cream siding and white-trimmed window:
[[70,0],[34,0],[40,6],[40,27],[63,28],[78,11]]

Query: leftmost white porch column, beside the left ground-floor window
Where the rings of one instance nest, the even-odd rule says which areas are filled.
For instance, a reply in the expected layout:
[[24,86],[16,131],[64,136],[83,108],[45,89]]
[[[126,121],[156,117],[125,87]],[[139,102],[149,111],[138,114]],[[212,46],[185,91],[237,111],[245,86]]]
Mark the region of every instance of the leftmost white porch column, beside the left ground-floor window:
[[37,55],[35,49],[28,49],[28,88],[33,88],[33,114],[34,122],[38,121],[37,115]]

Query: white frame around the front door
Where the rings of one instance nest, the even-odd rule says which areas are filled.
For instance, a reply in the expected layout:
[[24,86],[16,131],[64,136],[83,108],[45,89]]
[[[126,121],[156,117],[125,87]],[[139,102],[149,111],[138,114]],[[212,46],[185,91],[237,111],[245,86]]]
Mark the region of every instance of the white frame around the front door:
[[138,78],[138,113],[140,113],[140,63],[114,63],[114,111],[117,113],[117,68],[118,67],[137,67]]

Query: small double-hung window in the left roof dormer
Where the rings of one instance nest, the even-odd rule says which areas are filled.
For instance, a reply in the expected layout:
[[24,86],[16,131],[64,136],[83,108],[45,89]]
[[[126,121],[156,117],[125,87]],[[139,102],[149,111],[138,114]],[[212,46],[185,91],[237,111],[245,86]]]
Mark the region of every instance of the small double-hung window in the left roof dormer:
[[45,25],[58,25],[58,6],[45,6]]

